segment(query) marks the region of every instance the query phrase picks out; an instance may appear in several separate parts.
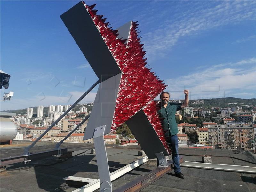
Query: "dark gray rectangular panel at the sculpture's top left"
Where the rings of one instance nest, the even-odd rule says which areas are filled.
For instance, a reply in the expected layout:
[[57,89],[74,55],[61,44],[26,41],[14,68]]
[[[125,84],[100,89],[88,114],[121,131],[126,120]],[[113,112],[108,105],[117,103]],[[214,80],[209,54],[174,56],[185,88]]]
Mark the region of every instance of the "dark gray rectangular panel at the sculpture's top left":
[[121,73],[82,2],[60,17],[101,82]]

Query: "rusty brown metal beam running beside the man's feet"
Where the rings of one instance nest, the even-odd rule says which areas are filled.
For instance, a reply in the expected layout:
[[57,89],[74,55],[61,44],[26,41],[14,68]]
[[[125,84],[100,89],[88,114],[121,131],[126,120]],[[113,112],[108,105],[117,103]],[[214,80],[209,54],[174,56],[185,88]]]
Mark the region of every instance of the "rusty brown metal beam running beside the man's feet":
[[[183,163],[183,157],[180,157],[180,164],[181,163]],[[147,187],[148,185],[150,185],[151,183],[153,183],[154,181],[161,178],[166,173],[172,171],[172,169],[173,169],[172,167],[173,167],[172,161],[168,161],[168,167],[157,167],[156,169],[123,185],[122,187],[114,190],[113,192],[137,192],[137,191],[140,191],[140,190],[144,189],[145,187]]]

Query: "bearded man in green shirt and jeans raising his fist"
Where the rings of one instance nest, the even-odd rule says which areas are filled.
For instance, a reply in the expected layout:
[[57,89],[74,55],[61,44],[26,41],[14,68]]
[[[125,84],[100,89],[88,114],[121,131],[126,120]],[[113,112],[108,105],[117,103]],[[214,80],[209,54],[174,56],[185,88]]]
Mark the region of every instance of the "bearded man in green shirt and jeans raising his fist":
[[187,89],[184,90],[185,100],[183,103],[169,103],[170,94],[168,92],[162,92],[160,94],[161,103],[159,103],[160,109],[158,110],[159,117],[162,120],[162,128],[165,133],[165,138],[169,144],[172,152],[172,161],[174,165],[175,175],[184,179],[184,175],[180,172],[180,157],[178,153],[178,126],[175,119],[176,111],[181,110],[188,106],[188,93]]

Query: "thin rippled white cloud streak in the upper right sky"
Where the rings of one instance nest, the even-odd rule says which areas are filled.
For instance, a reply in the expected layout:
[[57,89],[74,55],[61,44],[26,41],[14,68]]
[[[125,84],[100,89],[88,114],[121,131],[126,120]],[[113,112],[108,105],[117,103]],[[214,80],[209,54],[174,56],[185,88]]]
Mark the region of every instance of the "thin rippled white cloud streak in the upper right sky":
[[193,2],[191,9],[186,11],[179,9],[180,12],[159,24],[158,29],[143,35],[142,41],[147,53],[150,56],[159,56],[159,52],[164,55],[164,50],[172,48],[183,36],[198,35],[202,31],[229,23],[255,20],[256,3],[254,1],[219,1],[217,3],[218,5],[213,6],[214,3],[212,3],[211,7],[205,9],[200,6],[204,2]]

